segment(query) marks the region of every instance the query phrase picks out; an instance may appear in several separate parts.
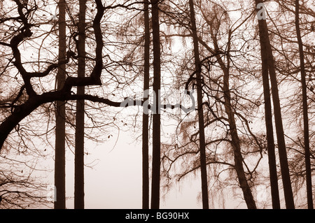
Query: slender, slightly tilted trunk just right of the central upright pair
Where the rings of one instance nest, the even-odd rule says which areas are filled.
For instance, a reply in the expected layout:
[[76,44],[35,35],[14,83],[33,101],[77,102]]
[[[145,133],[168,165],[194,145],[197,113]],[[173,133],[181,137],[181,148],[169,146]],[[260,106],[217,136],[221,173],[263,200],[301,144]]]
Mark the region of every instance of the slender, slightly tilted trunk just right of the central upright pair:
[[202,208],[209,209],[208,197],[208,180],[207,180],[207,163],[206,163],[206,140],[204,136],[204,110],[202,107],[202,76],[200,54],[198,46],[197,27],[195,20],[195,9],[193,0],[189,0],[190,22],[193,31],[193,45],[195,57],[195,69],[197,77],[197,105],[198,105],[198,122],[199,122],[199,140],[200,140],[200,168],[202,181]]

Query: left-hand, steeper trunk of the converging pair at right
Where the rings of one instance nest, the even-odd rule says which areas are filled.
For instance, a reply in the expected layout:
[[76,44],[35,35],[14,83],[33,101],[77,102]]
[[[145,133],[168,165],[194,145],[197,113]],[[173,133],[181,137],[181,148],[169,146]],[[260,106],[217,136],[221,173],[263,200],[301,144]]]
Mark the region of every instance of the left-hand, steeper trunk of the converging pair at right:
[[[261,34],[260,34],[261,36]],[[269,162],[269,177],[272,195],[272,208],[280,209],[278,176],[276,172],[276,154],[274,149],[274,129],[272,126],[272,105],[270,98],[269,74],[268,74],[268,57],[266,55],[265,45],[260,43],[260,54],[262,59],[262,86],[264,89],[265,99],[265,124],[267,134],[267,150]]]

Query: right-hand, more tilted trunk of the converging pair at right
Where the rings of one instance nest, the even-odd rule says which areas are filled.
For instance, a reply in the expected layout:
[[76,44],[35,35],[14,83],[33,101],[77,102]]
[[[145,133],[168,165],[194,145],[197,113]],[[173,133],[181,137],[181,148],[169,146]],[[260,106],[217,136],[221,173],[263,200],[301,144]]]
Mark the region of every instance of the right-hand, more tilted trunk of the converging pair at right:
[[[261,0],[255,0],[256,6],[258,3],[262,3]],[[272,86],[272,101],[274,104],[274,120],[276,124],[276,138],[278,141],[278,148],[279,148],[279,159],[280,159],[280,166],[281,166],[281,175],[282,175],[282,182],[283,182],[283,192],[284,198],[286,201],[286,208],[294,209],[294,199],[293,199],[293,192],[292,192],[292,185],[290,182],[290,173],[288,168],[288,156],[286,153],[286,142],[284,139],[284,131],[283,131],[283,123],[281,117],[281,106],[280,106],[280,99],[279,99],[279,89],[278,89],[278,82],[276,80],[276,71],[274,69],[274,58],[272,56],[272,47],[269,41],[269,34],[267,28],[267,22],[263,19],[258,19],[258,27],[259,27],[259,34],[260,34],[260,44],[263,45],[262,49],[265,49],[266,52],[263,52],[267,55],[268,61],[268,69],[269,69],[269,77]]]

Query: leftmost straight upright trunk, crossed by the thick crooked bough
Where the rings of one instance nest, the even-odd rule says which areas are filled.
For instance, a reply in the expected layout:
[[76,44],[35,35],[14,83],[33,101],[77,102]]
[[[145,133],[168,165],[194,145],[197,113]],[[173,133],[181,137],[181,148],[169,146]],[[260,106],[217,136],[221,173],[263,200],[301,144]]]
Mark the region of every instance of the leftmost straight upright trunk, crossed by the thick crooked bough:
[[[64,0],[58,3],[59,8],[59,61],[66,58],[66,6]],[[58,67],[57,89],[62,89],[66,80],[66,64]],[[66,159],[65,159],[65,113],[64,101],[56,101],[56,138],[55,138],[55,209],[66,208]]]

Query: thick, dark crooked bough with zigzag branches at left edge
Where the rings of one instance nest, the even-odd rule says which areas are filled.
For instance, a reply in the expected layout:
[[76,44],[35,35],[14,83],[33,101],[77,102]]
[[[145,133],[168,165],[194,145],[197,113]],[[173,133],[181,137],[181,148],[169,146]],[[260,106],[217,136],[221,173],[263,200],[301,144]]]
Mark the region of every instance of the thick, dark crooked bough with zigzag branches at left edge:
[[[20,17],[23,20],[27,20],[25,15],[22,12],[22,4],[20,1],[16,1],[18,3],[18,7],[20,8]],[[64,1],[61,1],[64,2]],[[23,41],[24,38],[31,36],[31,30],[29,29],[29,24],[25,21],[26,24],[26,31],[13,36],[10,41],[10,47],[13,50],[13,56],[15,57],[14,65],[19,70],[20,75],[24,80],[24,87],[27,89],[27,94],[29,98],[25,103],[21,105],[15,106],[13,112],[6,117],[3,122],[0,124],[0,151],[3,148],[3,144],[8,138],[8,135],[11,131],[23,120],[27,115],[31,114],[36,108],[43,105],[44,103],[52,103],[54,101],[67,101],[67,100],[78,100],[78,99],[87,99],[92,101],[97,101],[100,103],[106,103],[109,106],[120,107],[122,102],[114,102],[109,99],[101,99],[97,96],[92,95],[73,95],[72,94],[72,87],[78,86],[92,86],[92,85],[100,85],[101,84],[101,75],[102,75],[102,49],[104,46],[103,39],[102,39],[102,30],[100,27],[100,21],[104,15],[104,6],[102,4],[102,0],[95,0],[97,4],[97,13],[94,17],[92,27],[94,29],[94,36],[95,36],[95,66],[90,73],[89,77],[84,78],[76,78],[76,77],[66,77],[64,81],[63,87],[53,92],[44,92],[43,94],[36,94],[34,91],[30,79],[34,77],[44,77],[48,75],[50,71],[53,69],[61,66],[62,64],[66,64],[69,62],[69,59],[73,57],[73,52],[68,51],[66,52],[66,60],[59,62],[58,64],[51,64],[48,68],[43,72],[27,72],[21,63],[20,58],[20,50],[18,49],[18,45]]]

